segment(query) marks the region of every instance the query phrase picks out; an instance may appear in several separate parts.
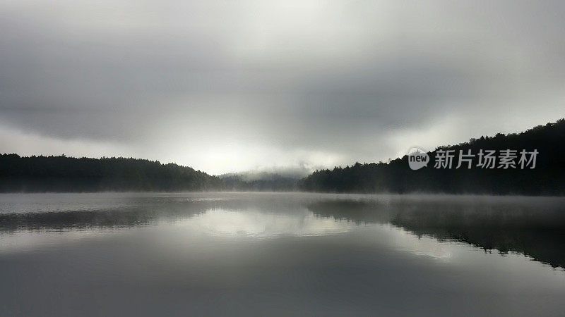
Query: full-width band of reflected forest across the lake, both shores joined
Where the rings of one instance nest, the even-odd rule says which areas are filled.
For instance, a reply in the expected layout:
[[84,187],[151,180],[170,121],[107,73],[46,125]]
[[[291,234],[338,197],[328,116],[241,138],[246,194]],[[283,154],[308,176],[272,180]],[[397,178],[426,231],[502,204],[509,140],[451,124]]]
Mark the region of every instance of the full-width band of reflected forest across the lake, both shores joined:
[[290,194],[225,194],[225,198],[133,198],[124,206],[0,214],[0,233],[130,228],[184,220],[209,210],[260,211],[357,223],[387,223],[415,235],[467,242],[485,250],[526,254],[565,268],[565,199],[540,197],[377,196],[343,199]]

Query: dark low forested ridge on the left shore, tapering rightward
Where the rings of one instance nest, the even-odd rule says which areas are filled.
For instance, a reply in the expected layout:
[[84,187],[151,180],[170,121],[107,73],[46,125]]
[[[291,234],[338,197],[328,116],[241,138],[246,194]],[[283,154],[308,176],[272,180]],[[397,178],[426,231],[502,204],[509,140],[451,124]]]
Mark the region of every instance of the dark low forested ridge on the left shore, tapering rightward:
[[220,190],[222,180],[174,163],[0,155],[0,192]]

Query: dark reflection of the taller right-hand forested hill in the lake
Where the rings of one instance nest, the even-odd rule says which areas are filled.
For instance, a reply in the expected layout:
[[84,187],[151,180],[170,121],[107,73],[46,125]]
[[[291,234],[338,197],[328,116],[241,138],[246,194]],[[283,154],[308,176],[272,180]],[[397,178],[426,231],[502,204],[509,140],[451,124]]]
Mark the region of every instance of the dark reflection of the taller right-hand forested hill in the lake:
[[519,252],[565,268],[563,199],[527,197],[403,198],[390,201],[320,201],[319,216],[390,223],[415,235],[467,242],[502,254]]

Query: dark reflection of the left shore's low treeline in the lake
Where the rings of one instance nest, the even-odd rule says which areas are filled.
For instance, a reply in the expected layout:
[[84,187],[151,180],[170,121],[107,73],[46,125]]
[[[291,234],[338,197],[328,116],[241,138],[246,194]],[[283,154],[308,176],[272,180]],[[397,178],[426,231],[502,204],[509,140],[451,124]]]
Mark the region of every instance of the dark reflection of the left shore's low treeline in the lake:
[[130,228],[163,221],[175,221],[204,213],[216,201],[167,201],[138,206],[91,211],[0,214],[0,232],[59,231],[100,228]]

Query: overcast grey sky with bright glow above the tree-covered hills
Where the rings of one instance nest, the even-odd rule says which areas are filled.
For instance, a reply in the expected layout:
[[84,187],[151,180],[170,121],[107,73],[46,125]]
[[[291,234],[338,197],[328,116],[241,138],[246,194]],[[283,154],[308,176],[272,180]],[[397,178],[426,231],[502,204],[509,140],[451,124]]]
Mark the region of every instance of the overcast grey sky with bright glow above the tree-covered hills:
[[0,152],[316,168],[565,117],[561,0],[0,4]]

